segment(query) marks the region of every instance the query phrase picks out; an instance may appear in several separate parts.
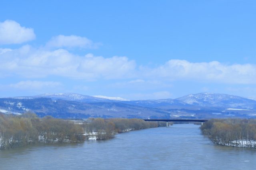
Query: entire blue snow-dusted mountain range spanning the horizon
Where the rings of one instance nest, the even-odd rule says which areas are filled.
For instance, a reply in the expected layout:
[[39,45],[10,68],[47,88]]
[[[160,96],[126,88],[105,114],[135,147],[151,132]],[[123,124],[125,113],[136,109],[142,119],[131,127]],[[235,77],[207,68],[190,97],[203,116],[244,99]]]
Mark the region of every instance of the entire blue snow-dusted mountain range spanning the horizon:
[[60,118],[213,118],[255,117],[256,101],[228,94],[199,93],[176,99],[125,100],[74,93],[0,98],[0,112],[32,111]]

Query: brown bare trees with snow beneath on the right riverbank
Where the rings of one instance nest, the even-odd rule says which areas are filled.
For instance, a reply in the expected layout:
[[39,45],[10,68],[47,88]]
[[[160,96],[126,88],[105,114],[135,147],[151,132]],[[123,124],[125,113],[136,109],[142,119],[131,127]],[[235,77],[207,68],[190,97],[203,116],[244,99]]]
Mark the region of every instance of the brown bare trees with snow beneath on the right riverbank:
[[256,119],[211,119],[201,130],[218,145],[256,148]]

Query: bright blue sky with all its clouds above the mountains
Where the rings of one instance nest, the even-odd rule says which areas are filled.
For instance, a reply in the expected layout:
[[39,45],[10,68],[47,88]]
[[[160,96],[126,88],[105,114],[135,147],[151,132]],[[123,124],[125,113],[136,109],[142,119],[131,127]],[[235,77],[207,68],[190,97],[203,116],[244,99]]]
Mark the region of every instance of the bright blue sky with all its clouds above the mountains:
[[3,0],[0,97],[256,97],[254,0]]

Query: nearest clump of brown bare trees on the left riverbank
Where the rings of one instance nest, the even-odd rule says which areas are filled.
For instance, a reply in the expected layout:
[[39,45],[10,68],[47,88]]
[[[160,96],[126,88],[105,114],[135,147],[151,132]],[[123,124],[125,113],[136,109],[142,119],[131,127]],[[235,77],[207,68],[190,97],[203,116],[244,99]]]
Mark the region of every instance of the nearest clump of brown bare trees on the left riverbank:
[[19,116],[0,115],[0,149],[18,147],[36,142],[83,141],[82,127],[61,119],[34,113]]

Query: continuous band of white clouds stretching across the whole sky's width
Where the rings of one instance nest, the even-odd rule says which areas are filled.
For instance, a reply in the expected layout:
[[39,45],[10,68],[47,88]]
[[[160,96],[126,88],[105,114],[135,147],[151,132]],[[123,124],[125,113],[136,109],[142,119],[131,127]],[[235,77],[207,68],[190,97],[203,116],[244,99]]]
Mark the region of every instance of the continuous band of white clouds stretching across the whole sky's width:
[[[137,66],[128,57],[75,55],[66,49],[0,49],[0,76],[40,78],[62,76],[74,79],[194,80],[226,84],[256,84],[256,65],[223,64],[218,61],[191,63],[170,60],[156,67]],[[132,80],[134,81],[134,80]]]

